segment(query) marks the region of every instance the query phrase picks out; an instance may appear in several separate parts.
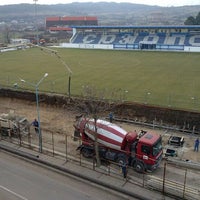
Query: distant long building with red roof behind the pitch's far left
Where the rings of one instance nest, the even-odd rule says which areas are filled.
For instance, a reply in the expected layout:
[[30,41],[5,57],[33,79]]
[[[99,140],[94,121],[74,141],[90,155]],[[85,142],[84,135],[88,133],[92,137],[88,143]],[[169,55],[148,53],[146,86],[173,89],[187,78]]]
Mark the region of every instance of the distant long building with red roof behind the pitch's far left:
[[64,16],[47,17],[46,30],[49,32],[72,31],[71,26],[97,26],[98,20],[94,16]]

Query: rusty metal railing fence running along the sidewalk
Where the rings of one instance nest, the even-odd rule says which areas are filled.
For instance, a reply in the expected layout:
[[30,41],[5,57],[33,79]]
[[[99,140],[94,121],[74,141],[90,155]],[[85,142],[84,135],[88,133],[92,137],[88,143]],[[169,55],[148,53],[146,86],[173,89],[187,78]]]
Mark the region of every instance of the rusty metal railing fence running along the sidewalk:
[[[102,161],[101,167],[97,167],[95,158],[83,158],[80,152],[76,151],[81,144],[79,137],[55,133],[47,129],[41,129],[41,131],[43,132],[43,154],[64,158],[66,161],[72,160],[82,167],[96,170],[118,179],[123,178],[119,164],[106,160]],[[0,142],[1,140],[39,152],[39,138],[33,128],[30,128],[29,133],[26,135],[19,133],[15,136],[10,136],[6,135],[5,132],[0,132]],[[200,179],[200,174],[197,171],[177,167],[167,161],[163,161],[162,164],[163,167],[157,169],[156,172],[142,174],[135,172],[132,167],[128,166],[126,181],[176,198],[188,200],[200,198],[200,190],[196,187]]]

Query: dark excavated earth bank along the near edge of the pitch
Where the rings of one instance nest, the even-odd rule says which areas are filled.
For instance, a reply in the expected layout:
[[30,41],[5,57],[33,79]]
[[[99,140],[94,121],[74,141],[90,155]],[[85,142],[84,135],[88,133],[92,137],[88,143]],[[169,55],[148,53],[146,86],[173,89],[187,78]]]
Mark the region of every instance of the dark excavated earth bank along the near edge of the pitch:
[[[0,89],[0,97],[23,99],[35,102],[35,94],[19,90]],[[83,99],[71,98],[64,95],[40,94],[40,102],[47,106],[57,108],[71,108],[76,111],[76,106]],[[85,100],[87,101],[87,100]],[[157,125],[175,127],[185,132],[200,133],[200,113],[193,111],[177,110],[172,108],[156,107],[133,102],[102,102],[107,111],[112,111],[115,117],[130,119]]]

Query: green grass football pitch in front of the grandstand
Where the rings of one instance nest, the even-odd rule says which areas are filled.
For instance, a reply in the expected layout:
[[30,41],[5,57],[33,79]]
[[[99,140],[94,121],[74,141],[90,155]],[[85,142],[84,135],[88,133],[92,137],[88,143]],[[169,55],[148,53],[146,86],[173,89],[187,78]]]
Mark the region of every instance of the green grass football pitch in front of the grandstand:
[[[200,54],[39,47],[0,54],[0,86],[200,110]],[[58,57],[59,55],[59,57]],[[22,83],[20,79],[26,80]],[[15,87],[14,87],[15,85]]]

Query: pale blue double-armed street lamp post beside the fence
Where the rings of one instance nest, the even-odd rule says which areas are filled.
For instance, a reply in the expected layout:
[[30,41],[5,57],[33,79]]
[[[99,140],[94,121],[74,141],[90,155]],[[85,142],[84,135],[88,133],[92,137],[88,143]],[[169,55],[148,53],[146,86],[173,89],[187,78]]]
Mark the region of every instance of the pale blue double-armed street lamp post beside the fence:
[[48,73],[45,73],[44,76],[38,81],[37,84],[33,84],[30,82],[25,81],[24,79],[20,79],[21,82],[27,83],[28,85],[31,85],[32,87],[35,87],[35,96],[36,96],[36,105],[37,105],[37,116],[38,116],[38,134],[39,134],[39,152],[42,153],[42,132],[40,128],[40,110],[39,110],[39,97],[38,97],[38,89],[39,85],[42,83],[42,81],[48,76]]

